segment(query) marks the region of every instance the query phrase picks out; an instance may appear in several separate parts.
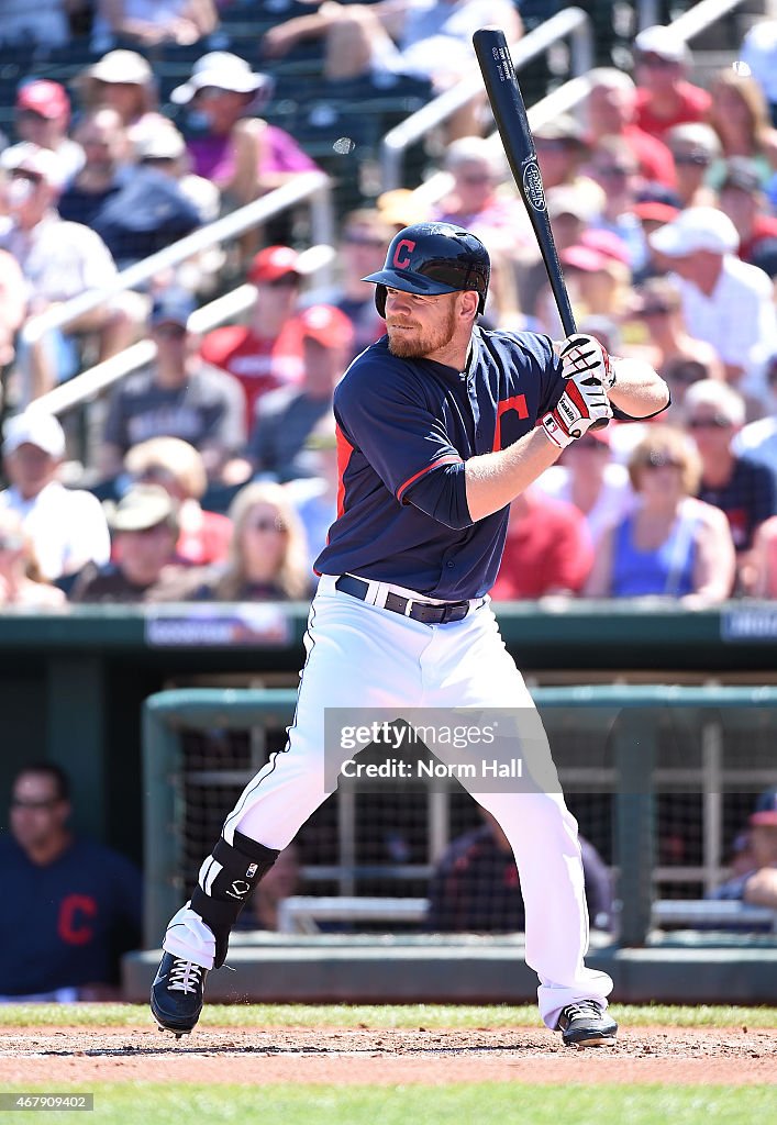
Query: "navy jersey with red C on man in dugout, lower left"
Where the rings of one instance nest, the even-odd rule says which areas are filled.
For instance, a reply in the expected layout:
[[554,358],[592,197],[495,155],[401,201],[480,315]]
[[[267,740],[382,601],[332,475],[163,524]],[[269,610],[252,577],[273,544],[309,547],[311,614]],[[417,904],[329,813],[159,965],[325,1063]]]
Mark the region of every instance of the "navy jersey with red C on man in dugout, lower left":
[[128,860],[74,839],[41,866],[6,835],[0,871],[0,994],[117,982],[119,954],[141,942],[141,875]]

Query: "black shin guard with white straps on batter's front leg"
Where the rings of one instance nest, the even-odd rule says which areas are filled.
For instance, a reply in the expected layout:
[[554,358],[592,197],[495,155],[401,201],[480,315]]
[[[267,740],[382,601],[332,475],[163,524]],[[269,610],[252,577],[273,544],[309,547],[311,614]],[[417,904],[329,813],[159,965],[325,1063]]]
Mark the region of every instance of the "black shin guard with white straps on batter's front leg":
[[191,896],[191,909],[211,927],[216,938],[214,969],[224,964],[230,932],[251,891],[279,854],[236,831],[234,844],[227,844],[222,836],[211,858],[203,864],[199,882]]

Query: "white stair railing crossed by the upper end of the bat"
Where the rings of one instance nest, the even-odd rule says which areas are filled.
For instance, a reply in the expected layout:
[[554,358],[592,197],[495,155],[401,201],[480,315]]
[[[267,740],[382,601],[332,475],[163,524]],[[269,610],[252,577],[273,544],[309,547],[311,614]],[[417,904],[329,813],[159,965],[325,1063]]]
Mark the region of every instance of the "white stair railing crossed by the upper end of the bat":
[[[572,74],[584,74],[591,69],[593,42],[591,20],[581,8],[566,8],[553,16],[541,27],[512,44],[510,54],[516,70],[536,58],[560,39],[571,38]],[[384,190],[402,184],[402,164],[408,148],[426,136],[431,129],[446,122],[474,97],[482,93],[483,79],[479,70],[473,70],[450,90],[439,94],[416,114],[391,129],[381,146],[381,170]]]

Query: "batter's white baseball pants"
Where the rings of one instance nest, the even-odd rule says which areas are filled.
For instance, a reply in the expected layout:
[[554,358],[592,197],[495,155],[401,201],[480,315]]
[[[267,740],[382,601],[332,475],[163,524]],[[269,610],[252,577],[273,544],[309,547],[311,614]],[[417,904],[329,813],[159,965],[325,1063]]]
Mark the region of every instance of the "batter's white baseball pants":
[[[325,708],[398,708],[399,713],[403,706],[525,709],[535,719],[532,755],[544,778],[542,788],[479,792],[476,782],[461,780],[493,813],[512,846],[526,907],[526,962],[539,978],[545,1024],[555,1028],[561,1009],[578,1000],[595,999],[606,1007],[613,981],[583,964],[588,911],[577,821],[564,803],[547,738],[489,601],[462,621],[427,626],[379,608],[388,588],[414,596],[410,591],[370,583],[369,601],[378,604],[369,604],[337,591],[334,582],[328,575],[321,578],[311,606],[307,659],[286,748],[245,786],[226,818],[225,839],[233,843],[238,829],[266,847],[284,848],[325,800]],[[536,762],[537,754],[542,762]],[[351,756],[342,752],[343,760]],[[547,777],[555,784],[547,785]],[[186,918],[186,908],[175,920],[176,938],[166,939],[164,947],[212,964],[198,927],[181,927],[181,921],[194,921]],[[188,946],[181,930],[190,935]]]

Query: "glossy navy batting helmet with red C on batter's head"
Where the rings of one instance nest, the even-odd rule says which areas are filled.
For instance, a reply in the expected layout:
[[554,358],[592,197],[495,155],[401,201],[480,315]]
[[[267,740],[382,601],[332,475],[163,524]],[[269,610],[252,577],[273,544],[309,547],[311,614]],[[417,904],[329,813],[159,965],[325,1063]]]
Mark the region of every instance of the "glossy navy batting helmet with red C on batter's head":
[[386,287],[428,296],[474,289],[482,313],[490,276],[489,252],[474,234],[452,223],[414,223],[394,236],[383,269],[361,280],[375,282],[381,316],[386,314]]

